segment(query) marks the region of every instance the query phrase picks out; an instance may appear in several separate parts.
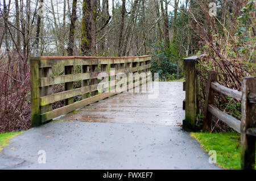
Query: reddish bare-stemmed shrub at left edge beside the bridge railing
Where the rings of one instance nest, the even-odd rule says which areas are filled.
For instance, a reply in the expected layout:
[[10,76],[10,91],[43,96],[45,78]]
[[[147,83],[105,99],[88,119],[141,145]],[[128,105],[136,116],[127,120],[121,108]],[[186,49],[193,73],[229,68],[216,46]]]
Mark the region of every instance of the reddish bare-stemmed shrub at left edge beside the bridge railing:
[[30,71],[18,53],[0,55],[0,133],[30,128]]

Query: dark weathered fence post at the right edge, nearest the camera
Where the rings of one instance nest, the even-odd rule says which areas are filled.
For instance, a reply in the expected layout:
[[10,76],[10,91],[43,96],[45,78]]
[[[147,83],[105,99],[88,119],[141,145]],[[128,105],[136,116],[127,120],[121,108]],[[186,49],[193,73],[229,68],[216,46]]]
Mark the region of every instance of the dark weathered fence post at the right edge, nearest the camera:
[[241,102],[241,169],[254,170],[255,166],[255,136],[246,134],[248,128],[256,127],[255,103],[248,99],[256,93],[256,78],[246,77],[242,81]]

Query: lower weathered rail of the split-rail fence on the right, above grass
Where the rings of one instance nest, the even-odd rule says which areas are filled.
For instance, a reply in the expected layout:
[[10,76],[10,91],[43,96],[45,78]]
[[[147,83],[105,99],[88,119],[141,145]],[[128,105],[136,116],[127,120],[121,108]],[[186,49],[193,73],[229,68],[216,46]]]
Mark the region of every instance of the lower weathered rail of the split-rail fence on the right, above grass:
[[212,104],[208,104],[208,111],[212,113],[212,115],[218,117],[221,121],[228,124],[230,128],[233,128],[238,133],[240,133],[240,120],[237,120],[233,116],[228,115],[225,112],[222,112],[217,107],[214,107]]

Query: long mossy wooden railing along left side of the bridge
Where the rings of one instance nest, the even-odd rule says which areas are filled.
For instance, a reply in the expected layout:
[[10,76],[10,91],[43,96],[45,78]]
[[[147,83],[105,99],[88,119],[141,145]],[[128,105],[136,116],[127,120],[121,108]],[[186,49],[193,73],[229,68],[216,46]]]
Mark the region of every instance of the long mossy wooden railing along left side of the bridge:
[[[141,57],[36,57],[31,58],[31,124],[40,125],[57,116],[84,107],[98,100],[108,98],[118,92],[126,91],[151,80],[150,56]],[[74,72],[74,66],[81,66],[80,73]],[[52,70],[64,67],[64,75],[53,76]],[[114,70],[114,73],[112,72]],[[146,73],[146,76],[130,76],[129,73]],[[98,92],[98,75],[108,74],[106,79],[110,86]],[[111,76],[110,76],[111,73]],[[125,73],[127,82],[118,84],[117,74]],[[106,74],[104,76],[106,76]],[[122,77],[122,75],[121,75]],[[110,81],[109,81],[110,79]],[[135,79],[135,80],[134,80]],[[73,82],[81,81],[81,87],[74,89]],[[52,94],[51,87],[65,85],[63,92]],[[109,85],[107,83],[107,85]],[[115,88],[119,91],[115,91]],[[74,97],[81,100],[74,102]],[[52,103],[65,100],[65,106],[52,110]]]

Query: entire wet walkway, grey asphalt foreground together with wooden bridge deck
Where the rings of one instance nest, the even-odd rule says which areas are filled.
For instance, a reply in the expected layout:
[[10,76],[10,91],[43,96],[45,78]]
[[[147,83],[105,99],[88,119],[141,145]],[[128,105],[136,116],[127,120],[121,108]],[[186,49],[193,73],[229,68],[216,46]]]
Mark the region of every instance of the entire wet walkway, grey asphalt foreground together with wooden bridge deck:
[[0,169],[220,169],[179,127],[182,82],[159,82],[158,98],[147,96],[122,93],[32,128],[1,151]]

